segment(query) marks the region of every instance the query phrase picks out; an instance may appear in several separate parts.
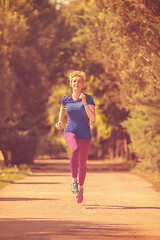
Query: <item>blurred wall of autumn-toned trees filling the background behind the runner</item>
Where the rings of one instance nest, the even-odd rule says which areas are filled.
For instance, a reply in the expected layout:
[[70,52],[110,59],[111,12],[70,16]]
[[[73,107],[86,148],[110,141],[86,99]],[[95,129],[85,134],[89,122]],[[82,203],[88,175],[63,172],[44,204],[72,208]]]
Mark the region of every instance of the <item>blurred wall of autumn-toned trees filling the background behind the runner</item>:
[[[90,158],[159,169],[158,0],[16,0],[0,7],[0,147],[12,164],[68,157],[54,127],[68,74],[96,103]],[[65,124],[65,123],[64,123]],[[6,160],[7,162],[7,160]]]

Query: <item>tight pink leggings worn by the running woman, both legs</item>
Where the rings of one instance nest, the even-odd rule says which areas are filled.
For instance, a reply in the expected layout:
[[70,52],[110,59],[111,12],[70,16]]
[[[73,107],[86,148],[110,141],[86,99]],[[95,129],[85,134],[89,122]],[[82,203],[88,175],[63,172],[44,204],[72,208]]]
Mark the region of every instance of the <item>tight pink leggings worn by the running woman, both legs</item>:
[[65,133],[64,139],[71,150],[70,167],[72,177],[79,176],[79,185],[83,186],[86,177],[87,159],[91,139],[78,139],[73,133]]

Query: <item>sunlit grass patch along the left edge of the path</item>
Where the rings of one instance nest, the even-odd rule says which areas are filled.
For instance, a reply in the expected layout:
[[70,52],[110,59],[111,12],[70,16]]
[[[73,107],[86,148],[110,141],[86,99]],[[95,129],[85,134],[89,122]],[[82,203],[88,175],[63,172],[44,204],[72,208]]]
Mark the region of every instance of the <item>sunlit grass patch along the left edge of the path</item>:
[[26,165],[20,167],[0,167],[0,189],[15,181],[25,178],[31,174],[31,170]]

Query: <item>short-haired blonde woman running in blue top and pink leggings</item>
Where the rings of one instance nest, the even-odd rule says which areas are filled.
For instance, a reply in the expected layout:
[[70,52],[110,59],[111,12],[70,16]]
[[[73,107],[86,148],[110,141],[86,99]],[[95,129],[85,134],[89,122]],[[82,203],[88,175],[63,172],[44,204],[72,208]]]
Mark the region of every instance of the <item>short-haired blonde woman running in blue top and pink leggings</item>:
[[[83,185],[86,176],[86,165],[91,146],[90,120],[95,121],[95,103],[91,95],[82,93],[85,85],[85,73],[74,71],[69,75],[72,94],[61,100],[59,121],[60,129],[67,112],[67,124],[64,139],[71,150],[70,167],[72,173],[72,193],[77,193],[77,203],[83,201]],[[77,179],[78,178],[78,179]]]

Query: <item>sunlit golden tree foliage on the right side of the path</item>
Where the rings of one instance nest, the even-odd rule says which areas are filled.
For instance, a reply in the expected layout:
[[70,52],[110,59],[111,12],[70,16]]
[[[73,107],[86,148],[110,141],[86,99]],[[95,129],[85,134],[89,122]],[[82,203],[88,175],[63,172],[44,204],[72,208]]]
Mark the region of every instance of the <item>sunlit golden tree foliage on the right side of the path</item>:
[[[93,132],[100,143],[109,129],[123,126],[131,139],[131,151],[156,166],[160,154],[158,2],[75,2],[77,8],[71,12],[77,28],[74,45],[83,49],[89,62],[85,67],[94,75],[90,86],[98,99]],[[77,52],[81,56],[82,51]],[[101,66],[97,71],[90,67],[96,64]]]

